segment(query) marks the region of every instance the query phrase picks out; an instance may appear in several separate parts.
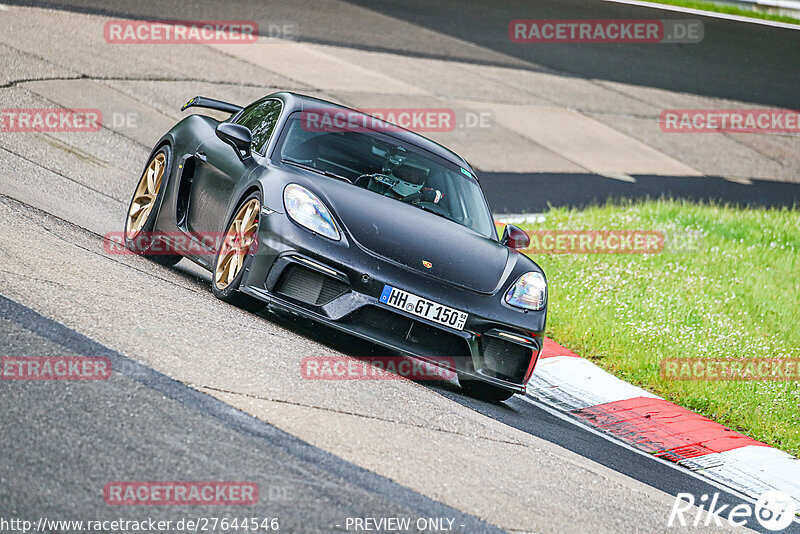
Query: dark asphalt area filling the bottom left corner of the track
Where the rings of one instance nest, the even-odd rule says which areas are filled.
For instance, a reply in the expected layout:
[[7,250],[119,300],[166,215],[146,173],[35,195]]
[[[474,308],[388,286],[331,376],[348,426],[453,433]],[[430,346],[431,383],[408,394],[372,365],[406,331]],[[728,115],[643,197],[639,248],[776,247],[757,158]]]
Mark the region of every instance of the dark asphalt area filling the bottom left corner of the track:
[[[0,353],[94,355],[116,371],[101,385],[19,381],[0,388],[0,511],[9,516],[141,519],[110,510],[110,480],[255,482],[246,515],[289,532],[342,530],[347,517],[430,517],[464,532],[500,530],[311,447],[222,402],[0,296]],[[101,400],[98,400],[101,399]],[[126,414],[124,419],[120,414]],[[8,428],[9,421],[18,424]],[[171,476],[172,475],[172,476]],[[187,478],[189,477],[189,478]],[[240,517],[235,506],[152,507],[148,517]]]

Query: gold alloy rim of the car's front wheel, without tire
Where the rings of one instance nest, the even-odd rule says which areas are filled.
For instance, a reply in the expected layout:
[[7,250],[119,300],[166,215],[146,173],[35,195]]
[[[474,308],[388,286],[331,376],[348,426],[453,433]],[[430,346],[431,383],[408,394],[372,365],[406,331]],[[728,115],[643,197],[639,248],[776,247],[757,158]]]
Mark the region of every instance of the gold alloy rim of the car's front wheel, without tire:
[[214,282],[217,289],[225,289],[236,278],[244,263],[244,257],[253,244],[258,229],[258,212],[261,206],[258,199],[250,199],[233,218],[225,241],[217,255],[214,269]]

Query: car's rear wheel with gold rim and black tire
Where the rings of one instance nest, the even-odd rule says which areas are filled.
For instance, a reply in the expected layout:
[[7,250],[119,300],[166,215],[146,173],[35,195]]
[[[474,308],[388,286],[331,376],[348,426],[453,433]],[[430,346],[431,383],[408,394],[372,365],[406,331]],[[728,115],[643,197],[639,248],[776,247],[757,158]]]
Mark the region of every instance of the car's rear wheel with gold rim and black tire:
[[172,170],[172,149],[161,147],[144,168],[125,218],[125,247],[167,267],[181,261],[180,254],[164,254],[164,242],[153,236],[166,179]]

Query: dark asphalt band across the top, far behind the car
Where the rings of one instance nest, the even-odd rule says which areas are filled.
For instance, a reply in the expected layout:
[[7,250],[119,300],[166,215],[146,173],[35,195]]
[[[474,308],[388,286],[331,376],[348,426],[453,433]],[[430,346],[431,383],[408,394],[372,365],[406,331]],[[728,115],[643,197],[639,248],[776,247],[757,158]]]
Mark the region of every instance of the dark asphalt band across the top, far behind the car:
[[[800,32],[758,24],[697,17],[596,0],[349,0],[348,3],[431,30],[406,35],[347,19],[335,7],[312,0],[295,2],[159,2],[115,3],[93,0],[18,2],[129,18],[231,19],[245,16],[268,28],[292,21],[299,40],[423,57],[509,65],[618,81],[647,87],[715,96],[787,108],[800,107]],[[591,47],[549,45],[530,48],[511,43],[508,23],[514,19],[695,19],[705,37],[699,44],[654,46],[606,44]],[[268,31],[268,30],[267,30]],[[457,37],[481,47],[441,48],[436,34]],[[487,54],[483,49],[495,51]],[[469,83],[469,80],[464,80]]]

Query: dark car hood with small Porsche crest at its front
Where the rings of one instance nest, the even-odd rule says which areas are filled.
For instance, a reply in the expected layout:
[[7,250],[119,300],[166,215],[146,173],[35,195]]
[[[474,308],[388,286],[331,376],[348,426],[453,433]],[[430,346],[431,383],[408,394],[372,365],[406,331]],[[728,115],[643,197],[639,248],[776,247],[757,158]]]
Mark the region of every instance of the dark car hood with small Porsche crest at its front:
[[507,247],[453,221],[352,185],[336,184],[326,193],[358,246],[408,269],[493,293],[511,267]]

